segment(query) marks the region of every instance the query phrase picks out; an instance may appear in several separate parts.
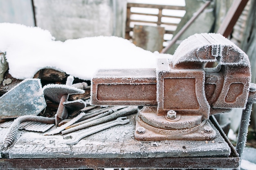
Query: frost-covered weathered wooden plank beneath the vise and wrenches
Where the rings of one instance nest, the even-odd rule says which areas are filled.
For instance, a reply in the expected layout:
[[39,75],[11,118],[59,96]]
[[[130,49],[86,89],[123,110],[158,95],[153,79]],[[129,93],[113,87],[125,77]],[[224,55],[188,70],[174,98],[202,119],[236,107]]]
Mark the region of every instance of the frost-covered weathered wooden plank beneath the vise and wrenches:
[[[227,157],[230,154],[229,145],[218,131],[214,143],[213,141],[208,143],[205,141],[136,141],[134,139],[135,116],[128,116],[130,123],[125,126],[103,130],[71,146],[65,144],[61,135],[43,136],[40,132],[23,131],[16,143],[5,152],[11,159]],[[213,128],[216,130],[215,127]]]

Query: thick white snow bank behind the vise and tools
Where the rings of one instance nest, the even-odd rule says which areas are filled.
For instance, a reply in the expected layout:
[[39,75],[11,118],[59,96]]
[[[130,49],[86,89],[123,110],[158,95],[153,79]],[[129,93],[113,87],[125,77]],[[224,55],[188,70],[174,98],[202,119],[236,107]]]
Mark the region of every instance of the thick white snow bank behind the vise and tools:
[[0,51],[6,52],[9,73],[32,78],[43,68],[54,68],[90,80],[100,68],[156,68],[152,53],[118,37],[90,37],[55,41],[47,30],[21,24],[0,23]]

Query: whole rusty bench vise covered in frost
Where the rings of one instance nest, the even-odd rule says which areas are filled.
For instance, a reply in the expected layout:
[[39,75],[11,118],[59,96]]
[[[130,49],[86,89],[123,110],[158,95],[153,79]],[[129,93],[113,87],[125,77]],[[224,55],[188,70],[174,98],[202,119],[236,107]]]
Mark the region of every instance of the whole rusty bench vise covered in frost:
[[[205,68],[209,62],[215,68]],[[105,69],[92,78],[94,105],[144,106],[135,139],[211,140],[208,119],[245,108],[251,71],[248,56],[220,34],[195,34],[152,69]]]

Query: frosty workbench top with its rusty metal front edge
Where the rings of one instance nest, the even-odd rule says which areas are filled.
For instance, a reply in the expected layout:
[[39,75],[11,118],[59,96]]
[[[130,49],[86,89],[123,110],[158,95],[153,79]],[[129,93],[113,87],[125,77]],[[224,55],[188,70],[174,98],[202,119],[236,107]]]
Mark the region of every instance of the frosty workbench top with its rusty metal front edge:
[[[61,135],[19,130],[13,145],[2,149],[0,169],[84,168],[237,168],[239,157],[216,119],[213,141],[136,141],[136,114],[130,122],[67,145]],[[53,127],[55,128],[55,127]],[[8,129],[0,128],[0,145]]]

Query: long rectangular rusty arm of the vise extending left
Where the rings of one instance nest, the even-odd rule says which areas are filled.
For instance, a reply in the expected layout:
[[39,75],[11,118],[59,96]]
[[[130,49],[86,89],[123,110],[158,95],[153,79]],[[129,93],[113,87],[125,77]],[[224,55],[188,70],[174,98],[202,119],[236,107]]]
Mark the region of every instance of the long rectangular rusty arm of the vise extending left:
[[92,80],[94,105],[157,105],[155,69],[101,70]]

